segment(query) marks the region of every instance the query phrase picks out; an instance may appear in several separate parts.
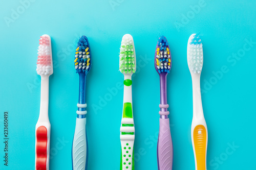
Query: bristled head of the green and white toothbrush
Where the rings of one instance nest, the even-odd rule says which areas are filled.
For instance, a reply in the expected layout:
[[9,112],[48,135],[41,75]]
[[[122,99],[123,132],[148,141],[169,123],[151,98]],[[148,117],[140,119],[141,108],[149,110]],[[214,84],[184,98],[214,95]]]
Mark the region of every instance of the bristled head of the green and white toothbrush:
[[119,70],[122,74],[133,74],[136,71],[136,55],[133,37],[125,34],[120,47]]

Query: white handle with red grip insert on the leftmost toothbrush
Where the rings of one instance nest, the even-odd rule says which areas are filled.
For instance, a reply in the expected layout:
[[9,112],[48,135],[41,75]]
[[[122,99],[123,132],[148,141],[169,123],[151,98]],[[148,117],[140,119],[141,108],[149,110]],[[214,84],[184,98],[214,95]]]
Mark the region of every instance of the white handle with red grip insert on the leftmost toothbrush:
[[35,170],[49,170],[50,123],[36,125]]

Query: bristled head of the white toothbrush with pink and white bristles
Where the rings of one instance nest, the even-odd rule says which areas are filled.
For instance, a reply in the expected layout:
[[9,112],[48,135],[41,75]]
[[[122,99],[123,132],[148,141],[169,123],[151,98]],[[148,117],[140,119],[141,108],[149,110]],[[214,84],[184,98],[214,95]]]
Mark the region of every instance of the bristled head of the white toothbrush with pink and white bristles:
[[42,35],[39,39],[36,71],[40,76],[53,74],[51,37]]

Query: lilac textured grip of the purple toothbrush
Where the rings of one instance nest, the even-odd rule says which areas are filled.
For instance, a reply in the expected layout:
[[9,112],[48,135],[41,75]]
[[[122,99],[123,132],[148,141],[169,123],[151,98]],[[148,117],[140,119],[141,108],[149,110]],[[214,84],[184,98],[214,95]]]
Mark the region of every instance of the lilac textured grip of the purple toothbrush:
[[170,136],[169,118],[160,118],[157,144],[158,170],[173,169],[173,141]]

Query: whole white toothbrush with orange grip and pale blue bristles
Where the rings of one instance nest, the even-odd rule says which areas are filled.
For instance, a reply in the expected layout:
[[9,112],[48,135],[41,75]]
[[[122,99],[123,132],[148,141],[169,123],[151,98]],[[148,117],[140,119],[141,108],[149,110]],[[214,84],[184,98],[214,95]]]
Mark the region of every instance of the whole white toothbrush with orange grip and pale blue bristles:
[[199,34],[192,34],[187,43],[187,63],[193,84],[193,120],[191,138],[197,170],[206,169],[207,127],[203,114],[200,76],[203,67],[203,45]]

